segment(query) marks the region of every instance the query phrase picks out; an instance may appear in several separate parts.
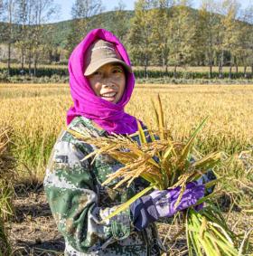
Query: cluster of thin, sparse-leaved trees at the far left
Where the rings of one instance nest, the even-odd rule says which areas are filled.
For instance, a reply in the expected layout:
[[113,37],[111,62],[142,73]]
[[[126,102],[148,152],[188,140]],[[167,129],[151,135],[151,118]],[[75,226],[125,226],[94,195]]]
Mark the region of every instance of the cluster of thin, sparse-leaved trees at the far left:
[[57,9],[51,0],[0,0],[1,61],[7,60],[8,71],[18,55],[21,69],[28,64],[32,73],[33,65],[36,75],[42,52],[49,50],[45,24]]

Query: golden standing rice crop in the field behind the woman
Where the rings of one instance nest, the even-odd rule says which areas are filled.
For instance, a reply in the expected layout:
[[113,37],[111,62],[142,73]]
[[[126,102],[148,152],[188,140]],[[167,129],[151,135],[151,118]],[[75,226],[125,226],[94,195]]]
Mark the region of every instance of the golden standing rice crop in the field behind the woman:
[[[237,148],[247,149],[251,145],[252,86],[136,86],[126,110],[153,128],[155,117],[150,115],[151,99],[158,92],[164,102],[165,119],[175,139],[189,137],[192,127],[210,116],[197,139],[202,152],[225,150],[233,153]],[[65,113],[71,104],[68,86],[1,84],[0,98],[0,123],[14,128],[18,144],[23,147],[16,154],[27,167],[40,172],[53,142],[65,127]]]

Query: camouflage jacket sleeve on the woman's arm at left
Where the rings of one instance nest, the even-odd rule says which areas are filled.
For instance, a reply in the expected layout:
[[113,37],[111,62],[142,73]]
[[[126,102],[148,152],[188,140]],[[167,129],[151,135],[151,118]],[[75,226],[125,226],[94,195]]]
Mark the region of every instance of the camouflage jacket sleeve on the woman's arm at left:
[[67,141],[56,143],[44,178],[53,217],[66,244],[81,252],[98,251],[125,239],[131,230],[130,212],[103,221],[115,208],[98,206],[98,186],[87,154]]

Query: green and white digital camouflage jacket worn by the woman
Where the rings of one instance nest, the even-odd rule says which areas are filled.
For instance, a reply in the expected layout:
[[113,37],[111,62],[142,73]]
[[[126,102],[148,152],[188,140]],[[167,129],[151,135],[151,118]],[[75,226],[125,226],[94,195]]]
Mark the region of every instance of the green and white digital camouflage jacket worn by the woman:
[[[83,117],[73,119],[69,126],[83,127],[98,136],[107,135]],[[132,138],[138,140],[137,136]],[[102,186],[107,175],[122,165],[108,155],[100,155],[94,162],[90,158],[82,161],[93,150],[94,146],[65,130],[53,147],[47,166],[44,188],[65,239],[65,255],[160,255],[162,244],[155,224],[136,232],[129,210],[101,223],[116,205],[126,202],[147,184],[138,178],[124,189],[112,189],[113,183]]]

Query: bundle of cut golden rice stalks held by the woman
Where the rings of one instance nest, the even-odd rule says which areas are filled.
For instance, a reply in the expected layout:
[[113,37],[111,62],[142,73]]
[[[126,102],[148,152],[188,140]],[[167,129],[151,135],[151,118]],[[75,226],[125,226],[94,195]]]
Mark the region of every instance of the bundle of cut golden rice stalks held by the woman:
[[[179,204],[188,182],[198,180],[201,175],[208,173],[212,167],[220,164],[223,156],[222,152],[213,152],[207,156],[201,156],[193,147],[194,138],[201,130],[206,119],[195,129],[186,143],[173,141],[173,137],[170,136],[171,133],[164,122],[164,112],[159,96],[158,102],[159,108],[155,109],[155,117],[159,130],[156,132],[143,128],[140,123],[138,123],[138,132],[130,137],[121,135],[96,137],[94,134],[90,134],[87,129],[81,131],[69,130],[72,135],[85,143],[98,147],[84,160],[94,156],[94,161],[98,155],[108,154],[124,165],[115,173],[108,175],[108,179],[103,185],[117,179],[119,181],[114,188],[121,185],[129,186],[139,176],[150,183],[150,186],[142,192],[136,194],[125,204],[118,206],[117,210],[111,213],[108,218],[126,210],[137,198],[154,188],[163,190],[181,186],[181,194],[177,201],[177,204]],[[132,138],[136,135],[139,137],[140,143]],[[205,186],[209,188],[218,181],[219,179],[216,179]],[[197,204],[206,202],[211,196],[213,194],[205,196]],[[199,213],[193,209],[187,212],[185,226],[190,253],[194,251],[197,255],[238,255],[236,236],[224,224],[224,220],[220,221],[220,216],[220,211],[213,204]],[[208,239],[205,239],[206,237]],[[211,238],[215,239],[211,240]],[[213,254],[213,250],[218,251],[218,254]]]

